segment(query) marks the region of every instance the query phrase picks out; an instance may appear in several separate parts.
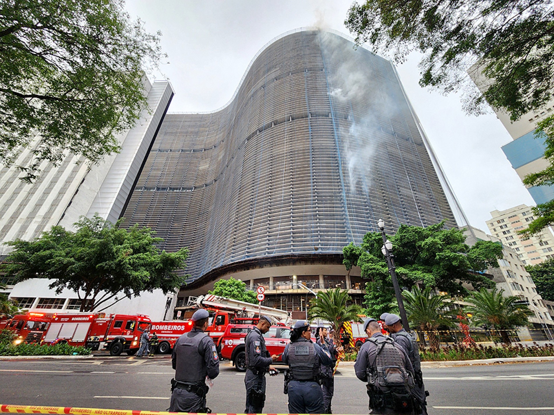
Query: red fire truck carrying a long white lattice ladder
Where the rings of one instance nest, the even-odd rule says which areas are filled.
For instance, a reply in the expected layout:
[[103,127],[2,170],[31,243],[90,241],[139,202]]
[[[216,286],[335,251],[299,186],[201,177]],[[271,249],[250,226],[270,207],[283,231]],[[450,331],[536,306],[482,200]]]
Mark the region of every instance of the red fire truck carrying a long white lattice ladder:
[[190,318],[200,308],[208,310],[209,320],[206,332],[209,333],[216,345],[229,324],[257,324],[260,312],[271,317],[275,324],[290,324],[290,313],[276,308],[245,303],[213,294],[189,297],[188,304],[181,308],[186,320],[152,322],[151,331],[156,333],[160,341],[158,352],[170,352],[179,336],[191,331],[193,324]]

